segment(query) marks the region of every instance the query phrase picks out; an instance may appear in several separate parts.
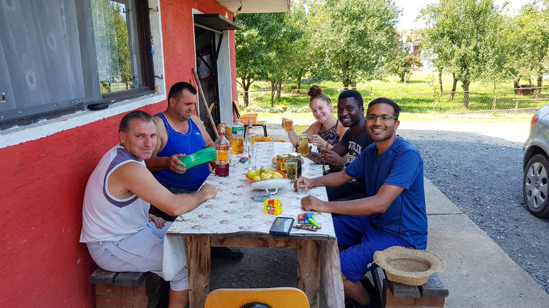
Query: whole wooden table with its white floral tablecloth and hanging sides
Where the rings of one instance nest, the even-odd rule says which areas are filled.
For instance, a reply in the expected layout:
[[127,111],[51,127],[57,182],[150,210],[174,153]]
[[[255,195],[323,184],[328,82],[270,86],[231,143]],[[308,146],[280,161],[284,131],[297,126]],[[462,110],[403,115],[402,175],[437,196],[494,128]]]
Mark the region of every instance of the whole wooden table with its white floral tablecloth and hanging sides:
[[[274,155],[293,151],[289,142],[257,142],[256,146],[257,168],[272,167]],[[163,268],[167,279],[188,260],[190,307],[204,307],[209,293],[211,246],[295,248],[298,287],[307,294],[311,307],[318,307],[321,287],[329,307],[343,307],[343,284],[331,215],[317,214],[315,220],[322,229],[316,232],[292,229],[289,236],[270,235],[270,226],[277,216],[264,213],[263,202],[253,201],[253,189],[244,177],[248,164],[237,162],[238,155],[235,156],[229,177],[216,177],[213,172],[206,181],[218,188],[218,195],[180,215],[167,231]],[[305,159],[303,175],[322,175],[320,165]],[[297,215],[303,212],[301,198],[307,194],[327,200],[325,188],[313,188],[307,193],[293,192],[292,185],[281,188],[273,195],[283,202],[280,216],[297,220]],[[185,246],[188,248],[186,256],[183,253]]]

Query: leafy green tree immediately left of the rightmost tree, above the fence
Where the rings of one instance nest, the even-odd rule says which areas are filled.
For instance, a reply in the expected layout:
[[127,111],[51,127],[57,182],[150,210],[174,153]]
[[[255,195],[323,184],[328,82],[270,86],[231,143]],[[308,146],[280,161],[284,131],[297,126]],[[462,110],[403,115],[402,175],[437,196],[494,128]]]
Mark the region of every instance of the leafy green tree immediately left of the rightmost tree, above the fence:
[[[441,0],[421,10],[428,28],[423,31],[425,48],[437,62],[462,83],[463,107],[469,105],[469,84],[479,78],[489,60],[487,38],[495,31],[498,11],[492,0]],[[453,89],[454,91],[455,89]]]

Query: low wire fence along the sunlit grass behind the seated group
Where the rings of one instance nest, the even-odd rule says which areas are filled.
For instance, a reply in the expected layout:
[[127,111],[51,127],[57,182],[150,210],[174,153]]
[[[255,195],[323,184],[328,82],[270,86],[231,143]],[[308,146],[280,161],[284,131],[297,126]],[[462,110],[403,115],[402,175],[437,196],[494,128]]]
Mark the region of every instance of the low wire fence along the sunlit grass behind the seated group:
[[[307,89],[308,90],[308,89]],[[323,88],[335,105],[343,89]],[[543,107],[549,103],[549,87],[510,88],[478,91],[434,92],[417,94],[386,94],[372,88],[356,88],[364,103],[377,97],[387,97],[399,104],[402,112],[416,114],[452,112],[497,112]],[[246,112],[309,112],[309,99],[303,89],[283,89],[283,95],[274,99],[271,107],[270,91],[250,91],[250,106]]]

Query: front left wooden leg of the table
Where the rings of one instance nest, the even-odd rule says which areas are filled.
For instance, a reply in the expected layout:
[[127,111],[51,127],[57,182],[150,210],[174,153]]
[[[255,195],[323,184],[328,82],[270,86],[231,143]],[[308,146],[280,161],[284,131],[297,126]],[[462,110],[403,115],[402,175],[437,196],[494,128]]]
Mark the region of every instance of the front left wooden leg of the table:
[[188,236],[189,307],[204,307],[210,289],[210,238]]

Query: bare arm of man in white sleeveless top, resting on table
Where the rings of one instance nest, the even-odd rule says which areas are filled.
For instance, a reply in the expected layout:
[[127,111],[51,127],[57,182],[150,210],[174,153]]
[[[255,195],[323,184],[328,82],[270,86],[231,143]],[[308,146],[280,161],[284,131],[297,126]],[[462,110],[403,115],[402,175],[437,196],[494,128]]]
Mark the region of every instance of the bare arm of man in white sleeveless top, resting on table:
[[217,194],[217,190],[209,184],[203,185],[198,192],[172,194],[154,179],[149,170],[137,163],[128,163],[117,168],[110,175],[109,190],[110,181],[172,216],[186,213]]

